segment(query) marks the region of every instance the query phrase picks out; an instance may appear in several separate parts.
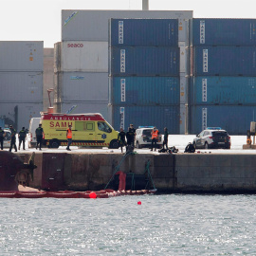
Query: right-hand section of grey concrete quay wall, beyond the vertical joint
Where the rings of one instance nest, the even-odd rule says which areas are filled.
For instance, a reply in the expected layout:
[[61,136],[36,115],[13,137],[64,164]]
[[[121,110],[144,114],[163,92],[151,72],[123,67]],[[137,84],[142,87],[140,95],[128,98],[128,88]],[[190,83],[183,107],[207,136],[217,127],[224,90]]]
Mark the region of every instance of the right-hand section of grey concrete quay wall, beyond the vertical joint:
[[255,155],[175,157],[177,192],[256,192]]

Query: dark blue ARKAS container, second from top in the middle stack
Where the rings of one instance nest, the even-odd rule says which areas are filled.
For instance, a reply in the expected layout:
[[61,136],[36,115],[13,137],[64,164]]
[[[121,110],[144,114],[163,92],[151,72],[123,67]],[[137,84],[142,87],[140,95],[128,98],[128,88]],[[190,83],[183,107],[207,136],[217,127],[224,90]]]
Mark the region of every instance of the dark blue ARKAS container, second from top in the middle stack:
[[112,76],[178,76],[178,47],[112,47]]

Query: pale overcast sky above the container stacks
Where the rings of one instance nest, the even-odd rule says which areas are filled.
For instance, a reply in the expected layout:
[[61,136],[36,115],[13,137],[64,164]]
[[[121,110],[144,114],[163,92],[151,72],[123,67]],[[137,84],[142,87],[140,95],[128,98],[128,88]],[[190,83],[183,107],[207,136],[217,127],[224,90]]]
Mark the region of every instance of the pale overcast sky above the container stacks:
[[[0,41],[61,41],[62,9],[141,9],[142,0],[0,0]],[[255,0],[149,0],[149,7],[193,10],[194,18],[256,18]]]

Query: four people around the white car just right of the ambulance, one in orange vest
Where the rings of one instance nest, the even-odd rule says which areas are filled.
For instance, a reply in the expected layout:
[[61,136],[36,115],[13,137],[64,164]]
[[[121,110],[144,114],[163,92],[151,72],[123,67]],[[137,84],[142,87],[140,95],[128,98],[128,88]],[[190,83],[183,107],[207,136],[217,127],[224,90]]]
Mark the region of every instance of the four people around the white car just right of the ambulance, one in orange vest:
[[[168,130],[165,127],[164,128],[164,138],[163,138],[163,148],[166,147],[166,149],[168,149]],[[152,142],[151,142],[151,151],[153,151],[153,149],[156,150],[157,148],[157,141],[158,141],[158,137],[160,136],[159,131],[156,129],[156,127],[153,128],[152,132],[151,132],[151,138],[152,138]],[[126,138],[126,140],[125,140]],[[120,132],[119,132],[119,136],[118,136],[118,140],[119,140],[119,147],[121,149],[121,153],[122,153],[122,148],[126,146],[126,151],[130,150],[130,147],[134,148],[135,147],[135,138],[136,138],[136,129],[134,128],[133,124],[130,124],[130,127],[128,128],[128,132],[125,133],[123,131],[123,128],[120,127]]]

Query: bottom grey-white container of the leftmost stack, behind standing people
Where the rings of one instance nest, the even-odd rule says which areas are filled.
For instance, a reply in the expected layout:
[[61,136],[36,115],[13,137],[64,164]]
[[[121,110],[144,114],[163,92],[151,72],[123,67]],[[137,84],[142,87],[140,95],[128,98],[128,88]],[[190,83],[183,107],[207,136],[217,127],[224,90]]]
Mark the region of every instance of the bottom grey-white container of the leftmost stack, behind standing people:
[[17,132],[22,127],[28,129],[32,118],[40,118],[43,111],[42,102],[34,103],[0,103],[0,117],[5,119],[6,124],[14,124]]

